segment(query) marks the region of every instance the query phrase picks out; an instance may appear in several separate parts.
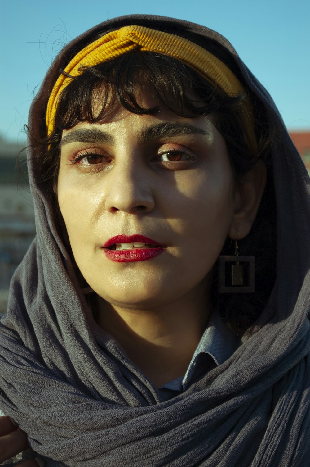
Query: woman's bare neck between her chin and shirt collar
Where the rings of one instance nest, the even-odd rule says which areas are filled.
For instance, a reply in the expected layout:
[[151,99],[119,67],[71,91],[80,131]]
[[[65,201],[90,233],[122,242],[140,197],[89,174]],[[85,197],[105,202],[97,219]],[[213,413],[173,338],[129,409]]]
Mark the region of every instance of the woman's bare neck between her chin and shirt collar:
[[147,309],[125,308],[98,297],[97,322],[160,387],[186,373],[207,326],[210,305],[203,289]]

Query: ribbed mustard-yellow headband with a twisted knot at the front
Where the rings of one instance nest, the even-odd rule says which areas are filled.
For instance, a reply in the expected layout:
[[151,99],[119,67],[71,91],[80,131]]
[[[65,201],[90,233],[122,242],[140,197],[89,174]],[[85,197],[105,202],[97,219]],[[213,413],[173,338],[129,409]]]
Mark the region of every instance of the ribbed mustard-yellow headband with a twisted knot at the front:
[[[251,115],[252,106],[247,98],[247,92],[234,73],[206,49],[177,35],[142,26],[124,26],[124,28],[103,35],[95,42],[87,45],[76,54],[64,71],[71,77],[76,77],[82,73],[80,70],[82,66],[94,66],[135,49],[159,52],[163,55],[177,58],[186,65],[189,65],[208,81],[212,77],[229,96],[243,95],[246,98],[244,110],[246,111],[247,118],[253,120],[253,115]],[[48,134],[54,129],[57,99],[70,81],[71,78],[65,74],[61,74],[48,99],[46,112]],[[254,126],[247,124],[247,127],[249,139],[253,145],[255,141]]]

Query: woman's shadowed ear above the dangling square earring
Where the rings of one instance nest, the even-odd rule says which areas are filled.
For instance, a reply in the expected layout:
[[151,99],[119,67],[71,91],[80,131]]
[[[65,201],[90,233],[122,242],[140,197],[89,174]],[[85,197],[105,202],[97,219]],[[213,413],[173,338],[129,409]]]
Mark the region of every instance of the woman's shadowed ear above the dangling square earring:
[[267,179],[265,163],[257,161],[240,182],[237,182],[234,198],[234,217],[228,236],[240,240],[248,235],[262,200]]

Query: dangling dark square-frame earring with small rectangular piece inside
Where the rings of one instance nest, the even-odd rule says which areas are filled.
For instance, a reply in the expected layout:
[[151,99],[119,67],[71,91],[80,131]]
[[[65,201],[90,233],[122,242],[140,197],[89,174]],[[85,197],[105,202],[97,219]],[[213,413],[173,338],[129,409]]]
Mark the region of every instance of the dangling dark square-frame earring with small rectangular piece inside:
[[239,256],[237,240],[234,255],[219,257],[219,293],[255,292],[255,256]]

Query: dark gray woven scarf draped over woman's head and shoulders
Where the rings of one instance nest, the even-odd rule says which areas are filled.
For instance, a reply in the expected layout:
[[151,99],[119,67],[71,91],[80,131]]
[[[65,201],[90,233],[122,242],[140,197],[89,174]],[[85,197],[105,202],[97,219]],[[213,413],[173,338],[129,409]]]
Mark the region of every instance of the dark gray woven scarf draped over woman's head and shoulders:
[[[37,235],[11,282],[0,324],[0,407],[35,452],[71,467],[307,466],[310,452],[310,180],[268,92],[208,28],[131,15],[69,43],[30,112],[44,135],[48,94],[69,57],[97,32],[144,24],[223,44],[266,108],[277,206],[277,279],[269,303],[222,365],[162,402],[117,342],[96,325],[57,233],[29,154]],[[191,35],[192,34],[192,35]],[[104,349],[104,350],[103,350]]]

